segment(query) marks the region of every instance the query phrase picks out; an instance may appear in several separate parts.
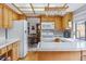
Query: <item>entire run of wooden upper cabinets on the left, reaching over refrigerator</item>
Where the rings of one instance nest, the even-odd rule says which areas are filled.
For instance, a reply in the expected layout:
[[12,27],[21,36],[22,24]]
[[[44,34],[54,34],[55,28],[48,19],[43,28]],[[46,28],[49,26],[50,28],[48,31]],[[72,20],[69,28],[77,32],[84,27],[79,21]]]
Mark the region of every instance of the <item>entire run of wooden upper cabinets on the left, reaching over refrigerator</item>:
[[19,16],[20,15],[15,13],[11,8],[0,3],[0,28],[12,28],[13,21],[19,20]]

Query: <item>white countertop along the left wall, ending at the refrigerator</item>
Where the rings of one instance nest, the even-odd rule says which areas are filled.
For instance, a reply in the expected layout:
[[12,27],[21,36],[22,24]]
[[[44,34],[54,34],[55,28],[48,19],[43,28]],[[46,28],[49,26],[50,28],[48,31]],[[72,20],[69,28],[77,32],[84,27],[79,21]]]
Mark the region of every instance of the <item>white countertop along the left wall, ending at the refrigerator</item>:
[[20,39],[19,38],[12,38],[12,39],[0,39],[0,49],[11,44],[11,43],[14,43],[15,41],[19,41]]

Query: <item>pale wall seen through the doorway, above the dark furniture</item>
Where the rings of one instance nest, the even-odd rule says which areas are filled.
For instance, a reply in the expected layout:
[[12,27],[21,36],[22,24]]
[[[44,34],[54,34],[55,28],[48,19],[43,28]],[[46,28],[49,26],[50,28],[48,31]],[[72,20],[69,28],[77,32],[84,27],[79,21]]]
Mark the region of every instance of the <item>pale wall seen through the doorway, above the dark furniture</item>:
[[[36,24],[40,23],[40,18],[30,17],[30,18],[27,18],[27,21],[29,23],[29,34],[36,34]],[[35,27],[34,30],[32,30],[32,26]]]

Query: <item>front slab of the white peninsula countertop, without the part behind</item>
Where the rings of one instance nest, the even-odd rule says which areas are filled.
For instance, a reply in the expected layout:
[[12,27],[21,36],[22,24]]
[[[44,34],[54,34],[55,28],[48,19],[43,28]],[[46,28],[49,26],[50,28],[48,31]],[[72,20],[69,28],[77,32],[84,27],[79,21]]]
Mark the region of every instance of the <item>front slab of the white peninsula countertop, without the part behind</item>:
[[37,51],[82,51],[86,42],[39,42]]

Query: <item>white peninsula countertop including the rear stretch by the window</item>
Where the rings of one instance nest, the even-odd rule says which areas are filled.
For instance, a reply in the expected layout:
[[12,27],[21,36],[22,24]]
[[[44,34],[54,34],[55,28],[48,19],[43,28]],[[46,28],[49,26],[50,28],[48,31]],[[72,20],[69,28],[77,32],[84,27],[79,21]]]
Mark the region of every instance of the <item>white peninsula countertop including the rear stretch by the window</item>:
[[36,51],[82,51],[86,50],[86,41],[74,38],[59,38],[60,42],[39,42]]

